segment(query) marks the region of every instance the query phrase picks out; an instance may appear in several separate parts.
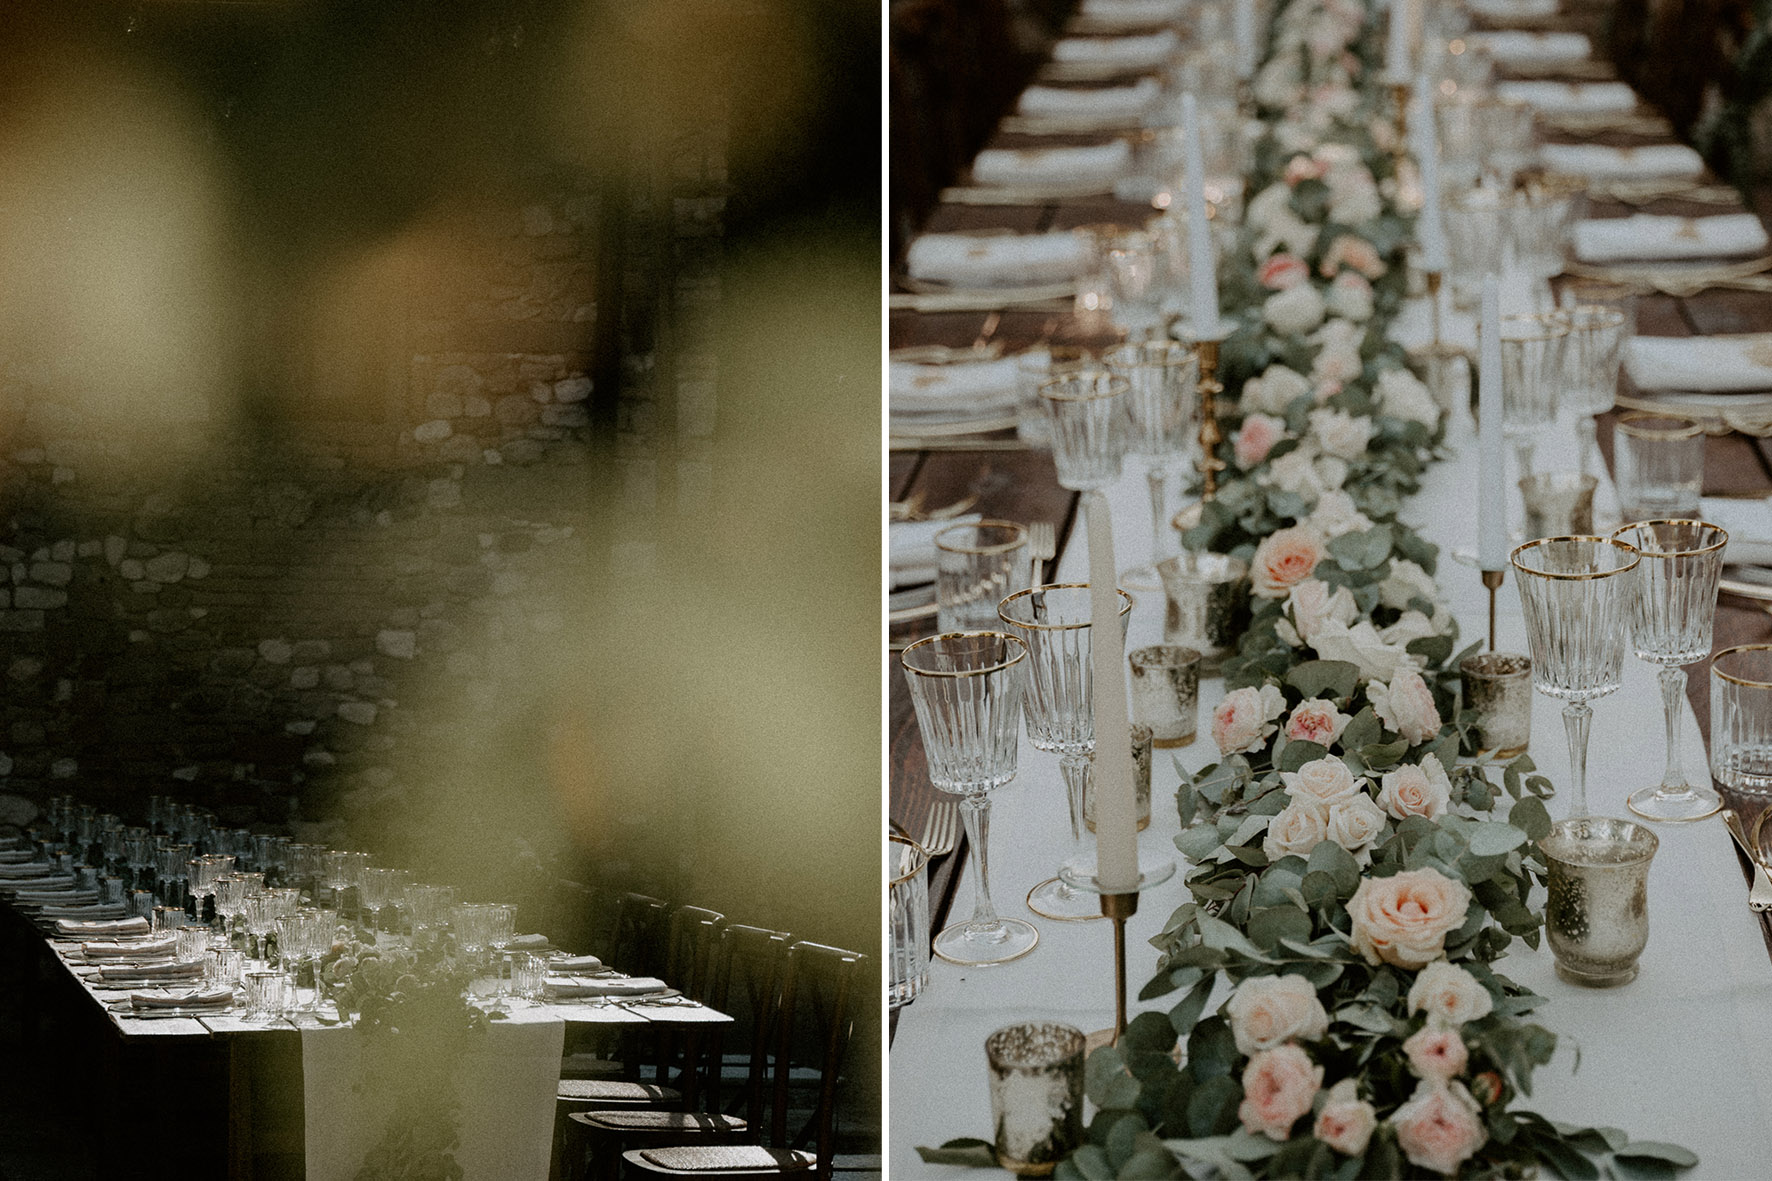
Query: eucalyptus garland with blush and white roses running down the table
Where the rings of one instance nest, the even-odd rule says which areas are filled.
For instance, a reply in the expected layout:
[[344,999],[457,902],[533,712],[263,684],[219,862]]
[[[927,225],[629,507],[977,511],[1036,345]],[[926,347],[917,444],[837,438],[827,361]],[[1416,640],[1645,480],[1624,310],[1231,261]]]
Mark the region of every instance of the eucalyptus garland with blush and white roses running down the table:
[[[1099,1115],[1060,1177],[1698,1163],[1515,1105],[1556,1036],[1524,1020],[1543,998],[1490,965],[1515,938],[1538,945],[1550,784],[1527,757],[1457,764],[1473,722],[1457,622],[1435,546],[1396,520],[1444,424],[1386,339],[1412,227],[1372,16],[1370,0],[1283,0],[1255,80],[1255,197],[1219,268],[1240,309],[1221,353],[1233,466],[1184,541],[1249,559],[1256,608],[1212,718],[1223,761],[1177,793],[1193,901],[1154,940],[1139,998],[1184,997],[1090,1057]],[[1233,991],[1207,1014],[1219,977]]]

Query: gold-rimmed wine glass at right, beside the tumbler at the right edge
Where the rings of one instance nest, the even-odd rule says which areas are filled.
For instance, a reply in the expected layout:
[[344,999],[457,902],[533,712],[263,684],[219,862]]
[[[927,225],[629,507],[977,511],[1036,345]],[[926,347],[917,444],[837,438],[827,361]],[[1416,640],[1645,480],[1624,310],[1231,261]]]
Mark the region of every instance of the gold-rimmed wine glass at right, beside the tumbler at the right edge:
[[1662,782],[1625,800],[1632,812],[1659,821],[1703,819],[1722,809],[1722,796],[1690,784],[1680,768],[1680,706],[1685,669],[1710,654],[1717,621],[1717,583],[1729,534],[1705,521],[1636,521],[1613,532],[1636,546],[1636,610],[1630,642],[1639,658],[1660,665],[1662,709],[1667,715],[1667,770]]

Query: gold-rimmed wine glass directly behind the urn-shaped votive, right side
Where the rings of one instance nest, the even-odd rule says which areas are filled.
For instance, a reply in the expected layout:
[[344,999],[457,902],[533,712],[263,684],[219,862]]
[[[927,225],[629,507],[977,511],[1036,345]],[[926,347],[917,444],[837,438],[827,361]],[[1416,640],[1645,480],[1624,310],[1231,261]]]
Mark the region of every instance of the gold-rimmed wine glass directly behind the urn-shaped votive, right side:
[[1597,697],[1623,683],[1636,548],[1611,537],[1542,537],[1513,550],[1533,688],[1563,702],[1570,816],[1588,816],[1588,727]]

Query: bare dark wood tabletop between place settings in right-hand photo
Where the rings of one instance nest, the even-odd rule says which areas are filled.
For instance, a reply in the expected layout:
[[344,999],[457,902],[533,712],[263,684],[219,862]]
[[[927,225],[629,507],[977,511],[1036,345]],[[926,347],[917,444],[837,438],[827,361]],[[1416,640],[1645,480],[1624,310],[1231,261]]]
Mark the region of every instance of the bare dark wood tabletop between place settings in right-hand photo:
[[[1577,14],[1565,21],[1565,27],[1579,28],[1598,39],[1597,16],[1593,12]],[[1589,137],[1550,131],[1543,137],[1549,142],[1604,142],[1614,145],[1669,142],[1669,137],[1641,137],[1628,133],[1600,133]],[[1058,138],[1044,142],[1063,142]],[[996,147],[1028,147],[1042,140],[1024,135],[998,135]],[[1772,199],[1767,192],[1751,195],[1754,213],[1767,218]],[[1630,213],[1666,213],[1676,216],[1708,216],[1717,213],[1738,213],[1740,207],[1722,207],[1690,200],[1657,200],[1646,206],[1627,206],[1616,200],[1589,200],[1586,216],[1627,216]],[[1111,197],[1086,197],[1076,200],[1053,202],[1044,206],[975,206],[943,204],[930,216],[925,232],[1005,229],[1017,232],[1040,232],[1053,229],[1070,229],[1090,223],[1143,225],[1152,215],[1145,206],[1118,202]],[[991,321],[996,321],[994,325]],[[1714,335],[1735,332],[1756,332],[1772,328],[1772,294],[1753,291],[1710,289],[1687,298],[1666,294],[1646,294],[1637,300],[1639,335]],[[989,335],[1003,346],[1005,353],[1047,340],[1058,344],[1104,346],[1113,337],[1102,332],[1099,321],[1088,323],[1076,316],[1054,316],[1051,312],[1005,310],[992,317],[987,312],[941,312],[923,314],[913,310],[893,310],[890,321],[891,348],[907,346],[959,346],[964,348]],[[1630,379],[1620,374],[1620,394],[1636,395]],[[1611,465],[1611,422],[1616,411],[1605,415],[1600,426],[1600,449]],[[1749,438],[1744,434],[1710,436],[1705,452],[1705,493],[1706,495],[1772,495],[1772,442]],[[1070,523],[1076,516],[1076,493],[1060,489],[1054,481],[1051,458],[1045,452],[1030,450],[939,450],[939,452],[893,452],[890,465],[891,498],[905,500],[921,497],[923,505],[946,505],[964,495],[976,493],[976,511],[987,516],[999,516],[1014,521],[1053,521],[1058,527],[1060,553],[1070,536]],[[1751,599],[1722,596],[1717,605],[1715,649],[1735,644],[1753,644],[1772,640],[1772,615],[1768,605]],[[902,640],[913,631],[895,631],[893,638]],[[891,660],[890,672],[890,750],[891,750],[891,816],[913,835],[921,825],[921,817],[936,798],[923,766],[921,739],[916,718],[911,713],[909,693],[904,677]],[[1692,665],[1689,670],[1689,697],[1699,718],[1698,736],[1708,748],[1705,720],[1710,716],[1708,665]],[[1687,741],[1687,766],[1696,759],[1692,736]],[[1653,757],[1660,757],[1660,739],[1653,741]],[[1646,752],[1646,757],[1648,752]],[[1738,807],[1753,812],[1758,805],[1737,802]],[[1719,832],[1719,839],[1722,839]],[[943,926],[943,917],[959,872],[964,846],[952,856],[937,858],[930,867],[930,904],[934,908],[934,929]],[[1747,880],[1747,862],[1742,862],[1744,881]],[[1763,924],[1767,947],[1772,952],[1772,924]]]

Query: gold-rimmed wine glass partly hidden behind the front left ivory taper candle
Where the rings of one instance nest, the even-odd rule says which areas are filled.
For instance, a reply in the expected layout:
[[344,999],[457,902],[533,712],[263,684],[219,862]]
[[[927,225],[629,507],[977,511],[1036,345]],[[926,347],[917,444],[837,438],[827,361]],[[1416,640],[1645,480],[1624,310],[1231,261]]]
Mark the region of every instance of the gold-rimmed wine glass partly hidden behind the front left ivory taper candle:
[[[1116,590],[1120,628],[1132,614],[1132,596]],[[1028,645],[1028,686],[1022,709],[1028,741],[1058,755],[1070,803],[1067,862],[1083,853],[1083,802],[1095,768],[1095,677],[1090,670],[1090,587],[1054,583],[1012,594],[998,606],[1010,635]],[[1100,899],[1047,878],[1028,894],[1028,910],[1042,919],[1100,919]]]

